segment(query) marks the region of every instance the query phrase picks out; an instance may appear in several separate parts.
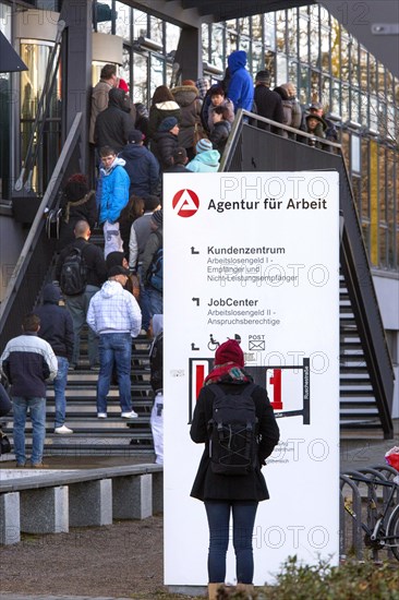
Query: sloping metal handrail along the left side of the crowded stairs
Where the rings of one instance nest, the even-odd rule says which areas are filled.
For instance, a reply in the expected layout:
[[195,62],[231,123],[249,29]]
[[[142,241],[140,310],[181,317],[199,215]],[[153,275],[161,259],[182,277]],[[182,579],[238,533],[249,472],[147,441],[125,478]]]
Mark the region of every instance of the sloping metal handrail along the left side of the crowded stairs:
[[[21,251],[19,261],[7,286],[4,299],[0,304],[0,350],[2,350],[8,339],[12,337],[12,335],[16,331],[20,331],[21,317],[23,316],[23,314],[19,315],[20,321],[17,323],[10,323],[10,321],[13,320],[9,319],[10,313],[13,309],[13,304],[15,302],[16,295],[19,293],[20,289],[24,285],[29,285],[31,289],[27,290],[29,292],[29,301],[27,301],[25,305],[25,312],[28,312],[28,310],[32,310],[36,299],[35,295],[37,296],[43,284],[43,280],[40,280],[40,277],[38,275],[36,277],[27,278],[28,280],[26,280],[25,277],[27,275],[32,276],[33,274],[35,274],[35,272],[41,274],[43,269],[46,267],[46,265],[31,264],[31,260],[44,230],[45,208],[51,208],[56,202],[59,189],[65,175],[65,170],[80,137],[81,127],[82,112],[77,112],[66,136],[61,154],[58,158],[45,195],[41,199],[35,219],[32,224],[31,230]],[[47,245],[49,245],[49,240],[46,241]],[[32,271],[28,271],[29,266],[32,267]]]

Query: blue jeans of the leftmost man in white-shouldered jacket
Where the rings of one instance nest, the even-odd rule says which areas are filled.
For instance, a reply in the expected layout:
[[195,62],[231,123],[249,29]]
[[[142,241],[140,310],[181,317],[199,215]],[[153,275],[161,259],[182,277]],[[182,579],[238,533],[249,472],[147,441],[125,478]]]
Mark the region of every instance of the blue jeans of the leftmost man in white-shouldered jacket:
[[43,451],[46,439],[46,398],[35,397],[27,398],[25,396],[13,396],[13,416],[14,416],[14,453],[16,463],[24,465],[26,463],[25,455],[25,422],[27,411],[29,411],[32,420],[32,457],[33,465],[43,461]]

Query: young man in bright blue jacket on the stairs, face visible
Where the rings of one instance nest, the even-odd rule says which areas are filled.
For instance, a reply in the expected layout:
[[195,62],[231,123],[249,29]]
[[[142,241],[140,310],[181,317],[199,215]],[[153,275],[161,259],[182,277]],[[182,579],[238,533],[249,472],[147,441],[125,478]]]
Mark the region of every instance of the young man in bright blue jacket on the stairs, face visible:
[[102,167],[97,188],[99,225],[104,226],[105,257],[110,252],[122,252],[123,242],[119,229],[119,217],[129,202],[130,178],[125,160],[119,158],[113,148],[100,148]]

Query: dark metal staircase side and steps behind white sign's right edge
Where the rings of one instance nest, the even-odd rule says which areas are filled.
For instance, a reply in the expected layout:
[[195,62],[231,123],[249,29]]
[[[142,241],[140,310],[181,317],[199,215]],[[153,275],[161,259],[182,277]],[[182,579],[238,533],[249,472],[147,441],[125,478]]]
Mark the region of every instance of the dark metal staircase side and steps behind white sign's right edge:
[[[339,173],[340,242],[340,427],[342,436],[392,439],[394,369],[374,289],[362,230],[340,146],[323,149],[275,135],[245,122],[261,120],[239,111],[220,171],[336,170]],[[301,131],[301,137],[309,134]]]

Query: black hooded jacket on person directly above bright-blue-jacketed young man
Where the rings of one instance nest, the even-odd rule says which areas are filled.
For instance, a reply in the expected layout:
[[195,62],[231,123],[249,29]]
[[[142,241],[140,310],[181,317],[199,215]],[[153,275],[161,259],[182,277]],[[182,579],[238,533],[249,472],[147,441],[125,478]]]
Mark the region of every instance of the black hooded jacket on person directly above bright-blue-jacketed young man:
[[134,120],[126,108],[125,93],[113,88],[112,94],[109,94],[108,108],[96,119],[94,142],[97,147],[110,146],[118,154],[128,144]]

